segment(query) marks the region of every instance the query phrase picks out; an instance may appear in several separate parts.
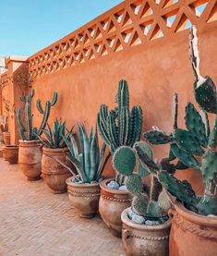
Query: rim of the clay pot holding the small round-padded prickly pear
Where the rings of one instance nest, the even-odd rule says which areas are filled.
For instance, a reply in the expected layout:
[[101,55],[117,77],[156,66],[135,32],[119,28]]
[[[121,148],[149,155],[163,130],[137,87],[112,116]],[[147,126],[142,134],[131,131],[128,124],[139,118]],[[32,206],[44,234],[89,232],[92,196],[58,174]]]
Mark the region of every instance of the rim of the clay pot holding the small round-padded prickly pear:
[[163,230],[166,228],[169,228],[171,226],[171,219],[169,218],[167,221],[165,221],[163,224],[160,225],[154,225],[154,226],[150,226],[150,225],[145,225],[145,224],[139,224],[139,223],[135,223],[132,222],[130,220],[130,218],[128,217],[128,211],[131,207],[128,207],[127,209],[125,209],[122,213],[121,213],[121,220],[123,222],[123,224],[133,227],[135,229],[139,229],[139,230]]

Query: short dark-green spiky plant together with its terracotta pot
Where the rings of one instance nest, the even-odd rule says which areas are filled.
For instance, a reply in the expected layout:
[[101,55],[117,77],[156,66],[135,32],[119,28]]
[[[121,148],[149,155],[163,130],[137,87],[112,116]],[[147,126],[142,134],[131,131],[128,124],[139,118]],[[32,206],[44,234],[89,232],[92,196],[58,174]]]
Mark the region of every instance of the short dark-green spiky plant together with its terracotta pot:
[[[46,138],[37,136],[42,141],[42,177],[46,185],[54,192],[54,194],[64,193],[67,190],[66,178],[71,177],[71,173],[63,166],[54,161],[51,156],[58,158],[67,164],[66,142],[63,136],[66,135],[66,122],[61,119],[55,119],[53,129],[47,124],[47,128],[43,130]],[[70,135],[72,136],[72,135]]]

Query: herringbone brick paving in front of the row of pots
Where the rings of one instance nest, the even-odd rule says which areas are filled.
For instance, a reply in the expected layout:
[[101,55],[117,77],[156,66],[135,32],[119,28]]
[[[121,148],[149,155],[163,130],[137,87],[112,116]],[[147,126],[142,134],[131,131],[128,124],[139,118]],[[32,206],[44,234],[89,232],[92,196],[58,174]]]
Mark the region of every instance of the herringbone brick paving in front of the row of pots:
[[0,256],[124,256],[101,218],[78,218],[67,194],[54,195],[0,158]]

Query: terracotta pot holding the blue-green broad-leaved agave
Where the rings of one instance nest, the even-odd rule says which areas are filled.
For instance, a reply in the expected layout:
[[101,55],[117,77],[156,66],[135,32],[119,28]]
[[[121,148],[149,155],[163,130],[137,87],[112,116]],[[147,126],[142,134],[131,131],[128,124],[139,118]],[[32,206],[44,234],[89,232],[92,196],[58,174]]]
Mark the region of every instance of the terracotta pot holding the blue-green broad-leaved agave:
[[98,212],[100,200],[100,185],[78,184],[72,178],[66,179],[69,200],[81,218],[92,218]]

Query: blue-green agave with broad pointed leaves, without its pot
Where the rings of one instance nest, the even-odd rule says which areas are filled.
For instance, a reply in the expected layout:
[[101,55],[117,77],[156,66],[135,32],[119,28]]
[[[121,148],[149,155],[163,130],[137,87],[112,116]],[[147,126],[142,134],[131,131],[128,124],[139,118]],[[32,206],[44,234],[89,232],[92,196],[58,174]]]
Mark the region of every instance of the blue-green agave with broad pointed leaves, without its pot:
[[[82,183],[99,181],[102,178],[102,171],[111,153],[108,153],[105,159],[103,159],[106,144],[103,143],[100,150],[97,129],[93,131],[93,128],[91,128],[90,136],[88,136],[84,125],[78,124],[79,145],[71,133],[69,133],[67,136],[63,136],[63,139],[66,142],[66,146],[69,150],[69,152],[66,153],[66,157],[69,162],[76,167],[78,175],[76,175],[70,167],[58,159],[54,159],[60,165],[65,166],[66,169],[72,173],[75,181]],[[78,148],[80,148],[80,152],[78,151]]]

